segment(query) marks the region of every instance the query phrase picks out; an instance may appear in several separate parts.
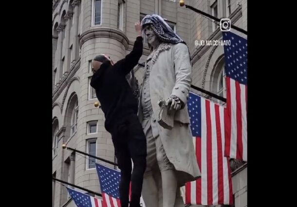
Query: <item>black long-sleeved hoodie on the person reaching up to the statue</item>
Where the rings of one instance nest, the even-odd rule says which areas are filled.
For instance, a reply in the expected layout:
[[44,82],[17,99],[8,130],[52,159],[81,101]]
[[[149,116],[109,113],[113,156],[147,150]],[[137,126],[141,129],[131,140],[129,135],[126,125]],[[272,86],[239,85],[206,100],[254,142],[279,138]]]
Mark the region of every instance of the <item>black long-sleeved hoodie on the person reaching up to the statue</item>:
[[126,75],[136,66],[143,52],[143,38],[138,36],[133,50],[114,65],[103,63],[92,76],[90,85],[105,115],[105,129],[111,132],[111,125],[130,114],[137,114],[137,100],[127,82]]

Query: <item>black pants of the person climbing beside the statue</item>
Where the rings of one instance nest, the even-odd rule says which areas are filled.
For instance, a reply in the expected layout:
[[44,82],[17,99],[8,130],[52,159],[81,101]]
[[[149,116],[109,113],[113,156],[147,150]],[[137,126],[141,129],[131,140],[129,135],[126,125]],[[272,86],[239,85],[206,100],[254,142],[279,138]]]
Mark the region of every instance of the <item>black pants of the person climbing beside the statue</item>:
[[[120,201],[128,207],[131,182],[130,207],[139,207],[143,175],[146,169],[147,141],[136,114],[122,117],[113,125],[111,132],[115,156],[121,169]],[[132,163],[133,161],[133,172]]]

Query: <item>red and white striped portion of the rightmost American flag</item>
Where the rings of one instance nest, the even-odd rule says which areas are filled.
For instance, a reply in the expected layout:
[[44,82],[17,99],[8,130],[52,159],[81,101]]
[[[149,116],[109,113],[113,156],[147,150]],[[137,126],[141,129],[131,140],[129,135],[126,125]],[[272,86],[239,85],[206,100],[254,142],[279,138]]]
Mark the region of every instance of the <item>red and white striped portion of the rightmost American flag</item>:
[[247,86],[226,77],[225,156],[247,161]]

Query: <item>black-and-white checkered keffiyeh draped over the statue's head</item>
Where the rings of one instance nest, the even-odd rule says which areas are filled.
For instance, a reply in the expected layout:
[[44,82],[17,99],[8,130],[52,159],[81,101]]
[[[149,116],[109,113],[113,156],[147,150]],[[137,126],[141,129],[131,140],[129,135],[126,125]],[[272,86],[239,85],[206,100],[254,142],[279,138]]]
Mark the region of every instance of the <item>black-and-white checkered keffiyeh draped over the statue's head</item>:
[[156,36],[163,42],[172,44],[182,42],[186,44],[186,42],[175,34],[166,21],[159,15],[145,16],[141,21],[141,26],[143,27],[145,24],[149,24]]

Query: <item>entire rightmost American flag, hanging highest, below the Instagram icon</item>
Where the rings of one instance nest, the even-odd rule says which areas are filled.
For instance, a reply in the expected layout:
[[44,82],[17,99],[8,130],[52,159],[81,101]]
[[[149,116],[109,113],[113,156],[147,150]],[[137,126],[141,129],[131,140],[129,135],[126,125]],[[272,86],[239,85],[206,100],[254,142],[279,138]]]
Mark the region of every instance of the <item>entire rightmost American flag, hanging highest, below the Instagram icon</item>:
[[225,114],[225,156],[247,161],[247,40],[223,33],[227,106]]

